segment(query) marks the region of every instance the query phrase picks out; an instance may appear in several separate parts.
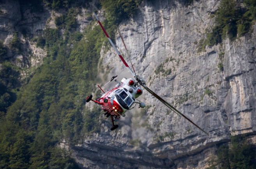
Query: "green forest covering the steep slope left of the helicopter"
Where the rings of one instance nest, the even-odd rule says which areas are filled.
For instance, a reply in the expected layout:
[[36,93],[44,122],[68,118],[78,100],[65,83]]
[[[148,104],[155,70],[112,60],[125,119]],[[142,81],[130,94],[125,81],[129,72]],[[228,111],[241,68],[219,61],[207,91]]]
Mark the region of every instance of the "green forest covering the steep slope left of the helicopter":
[[[84,33],[76,32],[77,10],[70,8],[69,0],[28,2],[33,10],[45,5],[53,10],[65,8],[67,12],[56,17],[56,29],[46,28],[34,40],[47,51],[34,76],[21,80],[21,68],[1,59],[0,168],[78,168],[70,154],[60,148],[60,143],[81,143],[85,135],[100,130],[101,109],[95,106],[90,110],[84,105],[99,81],[97,65],[107,39],[100,26],[95,26],[95,20]],[[103,8],[109,4],[113,2],[101,1]],[[128,18],[136,10],[135,0],[117,4],[108,6],[106,11],[119,15],[102,22],[111,38],[115,38],[120,15]],[[9,48],[22,54],[19,47],[20,40],[15,33]],[[6,53],[2,42],[0,52],[1,56]]]

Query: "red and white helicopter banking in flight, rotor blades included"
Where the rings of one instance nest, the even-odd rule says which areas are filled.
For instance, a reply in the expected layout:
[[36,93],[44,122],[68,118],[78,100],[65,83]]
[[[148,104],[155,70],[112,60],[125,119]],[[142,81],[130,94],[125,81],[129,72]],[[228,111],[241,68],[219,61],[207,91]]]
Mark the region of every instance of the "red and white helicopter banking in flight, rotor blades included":
[[[103,32],[105,33],[105,35],[107,36],[109,42],[111,43],[111,45],[117,52],[118,56],[120,57],[120,59],[122,60],[124,65],[127,67],[129,72],[131,72],[132,76],[134,77],[134,79],[123,78],[120,83],[117,81],[117,78],[116,78],[117,76],[114,76],[111,78],[111,81],[114,80],[117,82],[117,85],[115,87],[113,87],[108,92],[104,92],[102,90],[102,88],[98,85],[99,88],[104,93],[101,96],[101,98],[93,100],[92,95],[89,95],[86,99],[86,102],[89,102],[90,100],[92,100],[95,103],[100,104],[102,106],[103,111],[105,112],[105,115],[107,115],[106,117],[109,117],[109,116],[111,117],[113,126],[111,127],[110,130],[115,130],[118,128],[118,125],[114,124],[114,120],[120,119],[121,116],[125,116],[126,111],[135,107],[135,106],[133,106],[134,103],[139,104],[139,107],[141,107],[141,108],[145,107],[145,104],[143,102],[136,102],[136,100],[135,100],[143,93],[143,90],[141,89],[141,86],[143,86],[143,88],[145,90],[147,90],[150,94],[152,94],[154,97],[156,97],[158,100],[160,100],[165,106],[167,106],[169,109],[174,111],[179,116],[183,116],[185,119],[187,119],[189,122],[191,122],[193,125],[195,125],[198,129],[200,129],[201,131],[203,131],[205,134],[207,134],[209,136],[209,134],[207,132],[205,132],[203,129],[198,127],[198,125],[196,125],[189,118],[187,118],[184,114],[180,113],[177,109],[175,109],[168,102],[166,102],[164,99],[159,97],[156,93],[154,93],[152,90],[150,90],[146,86],[144,79],[135,73],[132,63],[131,63],[131,65],[132,65],[132,69],[134,72],[131,70],[131,68],[128,66],[128,64],[125,62],[124,58],[122,57],[120,52],[115,47],[112,40],[109,38],[108,33],[103,28],[101,22],[99,21],[99,18],[96,16],[95,12],[94,12],[94,16],[97,19],[97,21],[99,22],[99,25],[101,26],[101,28],[102,28]],[[122,38],[122,36],[121,36],[121,38]],[[123,38],[122,38],[122,41],[124,43]],[[124,46],[125,46],[125,44],[124,44]],[[125,46],[125,49],[126,49],[126,46]]]

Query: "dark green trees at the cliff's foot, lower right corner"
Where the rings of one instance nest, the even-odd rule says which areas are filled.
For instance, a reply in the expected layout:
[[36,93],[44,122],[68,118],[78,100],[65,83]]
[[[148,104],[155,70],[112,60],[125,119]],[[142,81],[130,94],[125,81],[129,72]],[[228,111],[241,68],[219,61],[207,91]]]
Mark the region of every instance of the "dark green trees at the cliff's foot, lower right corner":
[[254,169],[255,149],[246,136],[231,136],[230,146],[223,144],[217,151],[221,169]]

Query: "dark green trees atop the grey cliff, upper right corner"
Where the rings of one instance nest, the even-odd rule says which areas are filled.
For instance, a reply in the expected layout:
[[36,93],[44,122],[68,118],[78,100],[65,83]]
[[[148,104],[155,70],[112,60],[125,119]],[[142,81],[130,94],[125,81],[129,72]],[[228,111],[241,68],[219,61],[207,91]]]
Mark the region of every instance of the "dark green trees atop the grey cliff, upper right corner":
[[200,40],[198,52],[204,51],[207,45],[222,43],[226,36],[233,40],[237,35],[240,37],[249,32],[256,20],[255,0],[243,0],[244,8],[238,3],[236,0],[221,0],[219,10],[215,14],[215,26],[207,33],[206,39]]

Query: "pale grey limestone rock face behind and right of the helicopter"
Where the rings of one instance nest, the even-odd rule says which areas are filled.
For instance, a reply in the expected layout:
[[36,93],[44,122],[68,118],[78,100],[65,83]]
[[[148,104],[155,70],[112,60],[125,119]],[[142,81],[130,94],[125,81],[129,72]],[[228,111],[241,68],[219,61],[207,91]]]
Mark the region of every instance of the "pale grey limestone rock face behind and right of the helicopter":
[[[101,133],[72,147],[81,166],[207,168],[215,158],[215,144],[229,141],[231,134],[255,134],[255,25],[250,35],[197,52],[218,6],[215,0],[191,5],[180,0],[143,1],[133,18],[119,26],[137,74],[210,137],[144,90],[143,100],[150,105],[146,114],[128,112],[116,131],[103,123]],[[116,43],[129,60],[119,35]],[[102,52],[102,58],[115,67],[111,76],[126,71],[113,49]]]

